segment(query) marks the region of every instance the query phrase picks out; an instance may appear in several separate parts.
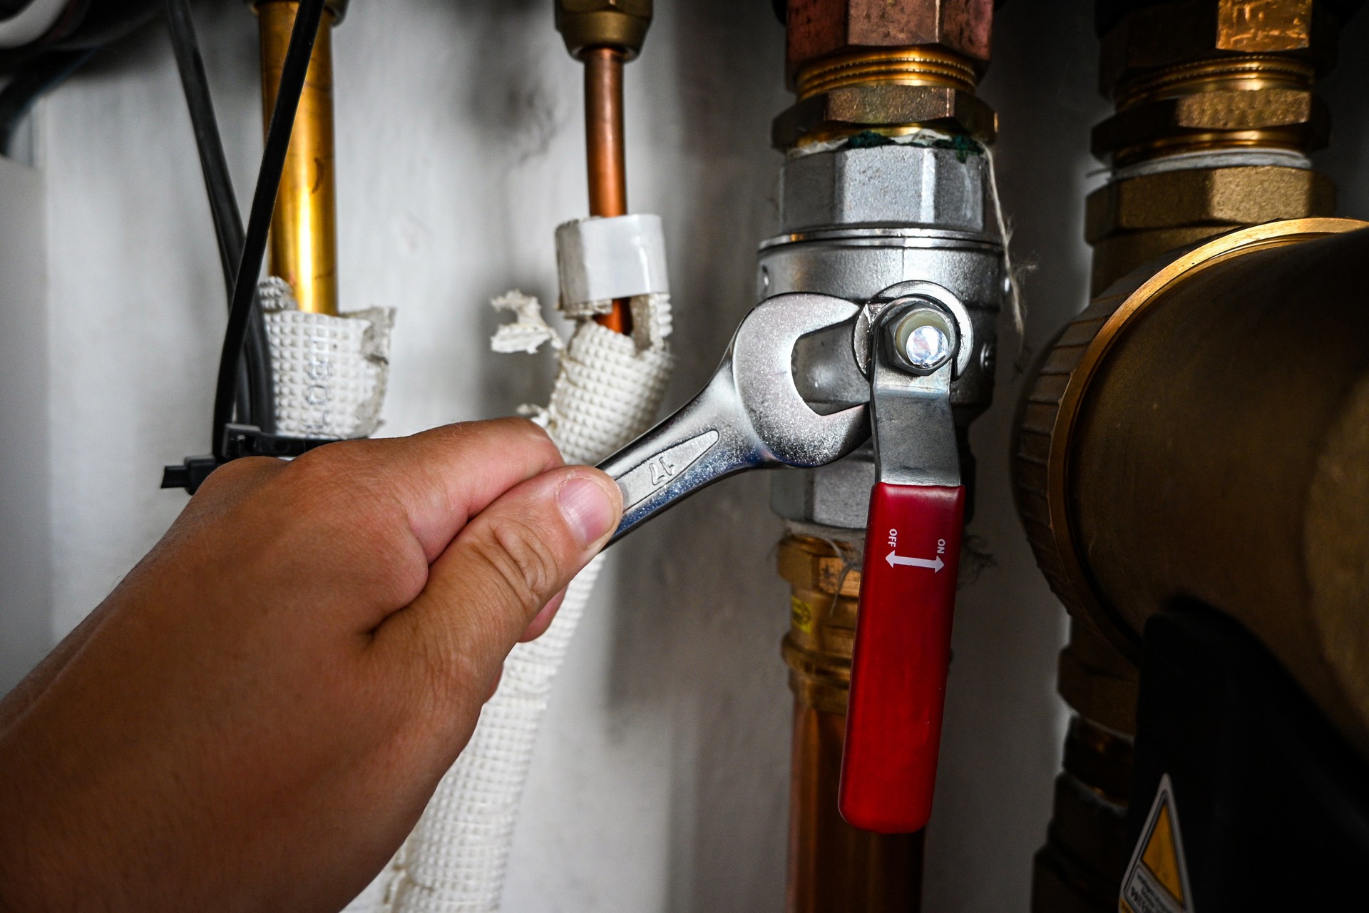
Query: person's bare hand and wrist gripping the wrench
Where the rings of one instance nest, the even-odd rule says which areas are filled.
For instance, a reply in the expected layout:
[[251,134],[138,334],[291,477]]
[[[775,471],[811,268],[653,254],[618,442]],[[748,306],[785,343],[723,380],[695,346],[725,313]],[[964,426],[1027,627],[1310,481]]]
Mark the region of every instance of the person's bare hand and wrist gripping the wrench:
[[0,910],[337,910],[617,524],[520,420],[218,470],[0,701]]

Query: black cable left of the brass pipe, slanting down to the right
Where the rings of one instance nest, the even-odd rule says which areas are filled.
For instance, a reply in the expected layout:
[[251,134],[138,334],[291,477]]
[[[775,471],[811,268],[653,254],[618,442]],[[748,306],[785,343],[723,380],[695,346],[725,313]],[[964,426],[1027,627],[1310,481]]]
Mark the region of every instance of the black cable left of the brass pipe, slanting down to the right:
[[[181,86],[185,90],[185,103],[190,110],[190,123],[194,127],[194,142],[200,152],[200,168],[204,172],[204,189],[209,197],[209,212],[214,216],[214,233],[219,241],[225,298],[231,307],[234,272],[238,260],[242,259],[242,214],[238,212],[233,177],[229,174],[229,162],[223,155],[223,140],[219,137],[219,123],[214,115],[209,78],[204,70],[204,57],[200,55],[200,42],[194,36],[190,4],[188,0],[166,0],[166,12],[167,27],[171,31],[171,48],[175,51]],[[237,370],[234,396],[238,422],[256,424],[267,434],[274,434],[275,394],[271,379],[271,356],[266,323],[261,319],[261,308],[257,301],[253,301],[244,355],[245,357]]]

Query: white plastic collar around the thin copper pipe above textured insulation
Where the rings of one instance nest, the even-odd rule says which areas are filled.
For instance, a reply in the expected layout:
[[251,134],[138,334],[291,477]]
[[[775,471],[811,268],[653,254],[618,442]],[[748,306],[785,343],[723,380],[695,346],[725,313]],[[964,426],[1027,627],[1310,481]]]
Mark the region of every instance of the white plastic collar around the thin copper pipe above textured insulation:
[[669,294],[665,235],[657,215],[579,219],[556,229],[561,309],[608,309],[616,298]]

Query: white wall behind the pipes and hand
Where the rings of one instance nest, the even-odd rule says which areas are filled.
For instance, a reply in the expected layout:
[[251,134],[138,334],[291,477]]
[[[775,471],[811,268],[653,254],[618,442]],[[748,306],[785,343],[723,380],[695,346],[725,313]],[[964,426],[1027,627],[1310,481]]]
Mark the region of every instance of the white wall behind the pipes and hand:
[[[486,301],[509,287],[554,294],[552,230],[586,207],[579,67],[552,30],[548,0],[352,5],[335,41],[341,281],[346,308],[400,307],[385,433],[509,413],[545,397],[550,363],[490,355]],[[767,0],[657,5],[628,70],[630,192],[634,209],[665,218],[682,356],[669,400],[679,402],[753,303],[753,252],[775,223],[769,120],[790,97]],[[1001,112],[1014,252],[1039,266],[1027,281],[1035,346],[1084,301],[1084,175],[1097,167],[1087,138],[1106,112],[1088,5],[1009,3],[983,89]],[[245,201],[260,151],[255,25],[241,0],[197,8]],[[1366,64],[1350,57],[1328,83],[1333,104],[1364,85]],[[14,522],[10,449],[0,482],[5,549],[15,528],[33,535],[45,523],[51,549],[30,548],[42,574],[29,574],[29,589],[4,568],[0,684],[37,658],[34,617],[51,617],[52,638],[70,630],[183,504],[156,485],[163,463],[207,449],[223,326],[208,209],[160,29],[101,55],[40,115],[48,345],[21,371],[34,390],[29,411],[10,396],[7,346],[3,402],[7,423],[22,415],[48,427],[30,452],[48,448],[49,471],[23,483],[44,491],[51,478],[47,516],[30,505],[31,524]],[[1348,142],[1327,164],[1362,200],[1362,134],[1342,133]],[[12,186],[0,172],[7,327],[26,300],[42,313],[41,277],[16,278],[7,259],[18,237]],[[41,226],[33,219],[22,229]],[[936,912],[1027,908],[1062,738],[1062,613],[1035,571],[1006,475],[1019,386],[1003,359],[998,402],[975,430],[971,531],[997,564],[960,600],[928,836],[925,909]],[[723,483],[617,549],[538,749],[505,909],[782,908],[787,600],[765,485]],[[23,642],[15,631],[26,617]]]

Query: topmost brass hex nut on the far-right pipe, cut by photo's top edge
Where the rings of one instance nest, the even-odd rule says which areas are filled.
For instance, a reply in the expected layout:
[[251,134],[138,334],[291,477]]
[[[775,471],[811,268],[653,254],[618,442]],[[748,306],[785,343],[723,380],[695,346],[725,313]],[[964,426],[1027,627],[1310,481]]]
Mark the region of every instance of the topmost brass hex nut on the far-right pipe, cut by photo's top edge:
[[1132,11],[1102,38],[1099,88],[1198,60],[1276,55],[1335,63],[1338,16],[1317,0],[1177,0]]

